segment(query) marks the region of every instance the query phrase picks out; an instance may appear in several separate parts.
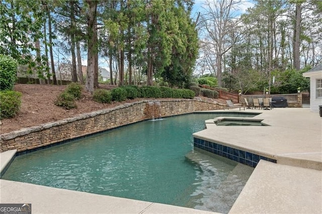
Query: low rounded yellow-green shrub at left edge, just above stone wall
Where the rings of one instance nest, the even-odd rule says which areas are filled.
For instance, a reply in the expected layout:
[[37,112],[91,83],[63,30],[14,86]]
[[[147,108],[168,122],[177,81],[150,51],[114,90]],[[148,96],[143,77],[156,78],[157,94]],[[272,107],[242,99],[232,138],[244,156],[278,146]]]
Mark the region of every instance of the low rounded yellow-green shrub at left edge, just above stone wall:
[[14,90],[0,91],[0,119],[13,118],[20,110],[21,93]]

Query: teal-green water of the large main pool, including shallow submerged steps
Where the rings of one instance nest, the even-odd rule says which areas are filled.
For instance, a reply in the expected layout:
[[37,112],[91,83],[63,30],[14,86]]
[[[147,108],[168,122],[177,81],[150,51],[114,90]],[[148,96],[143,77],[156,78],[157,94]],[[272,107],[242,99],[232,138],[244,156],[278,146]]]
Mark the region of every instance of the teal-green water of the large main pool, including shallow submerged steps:
[[2,179],[226,213],[253,169],[194,151],[192,133],[214,117],[144,121],[21,155]]

